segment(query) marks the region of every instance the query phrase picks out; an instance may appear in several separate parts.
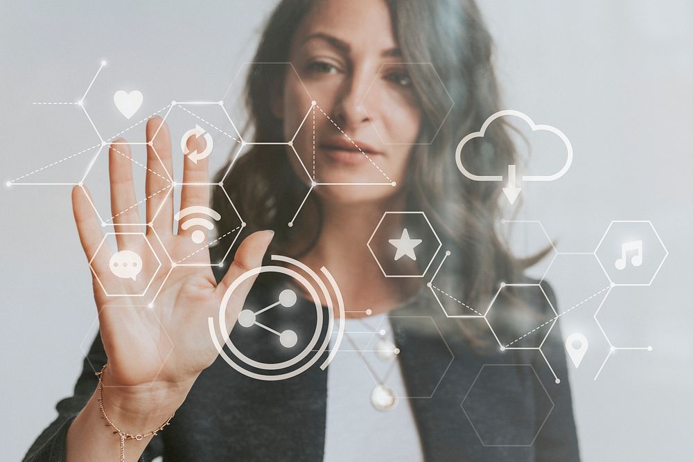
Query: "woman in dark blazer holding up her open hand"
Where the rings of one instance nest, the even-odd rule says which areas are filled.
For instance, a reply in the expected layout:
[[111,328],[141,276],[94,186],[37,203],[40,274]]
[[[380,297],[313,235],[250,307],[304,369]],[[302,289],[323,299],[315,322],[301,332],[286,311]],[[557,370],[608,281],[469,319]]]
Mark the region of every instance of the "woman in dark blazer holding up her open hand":
[[[443,248],[457,256],[443,273],[470,307],[488,303],[500,281],[516,281],[528,264],[511,258],[493,231],[498,184],[462,181],[450,155],[462,136],[498,110],[491,39],[473,1],[284,0],[265,28],[254,62],[292,63],[282,72],[254,64],[247,102],[256,142],[293,139],[295,149],[253,145],[228,175],[225,168],[216,177],[255,232],[218,274],[209,267],[173,268],[152,308],[137,306],[134,299],[116,303],[95,283],[100,335],[74,396],[58,404],[58,419],[26,460],[117,460],[119,454],[132,461],[158,455],[180,461],[579,459],[567,382],[548,388],[547,405],[536,375],[517,367],[501,380],[480,380],[476,390],[481,393],[468,394],[488,364],[537,364],[541,382],[553,380],[536,355],[500,352],[482,320],[446,318],[419,279],[383,277],[366,246],[385,211],[423,211]],[[450,99],[455,105],[448,114]],[[293,138],[310,107],[310,125]],[[159,166],[170,172],[170,135],[165,124],[157,131],[159,125],[160,119],[147,124],[152,141],[148,166],[150,172]],[[506,127],[489,130],[486,137],[491,152],[467,154],[470,170],[498,172],[514,163]],[[125,210],[116,224],[137,216],[132,167],[118,151],[123,149],[116,145],[109,153],[112,210],[114,215]],[[162,181],[164,175],[150,173],[148,195],[166,186]],[[313,181],[389,185],[322,185],[309,191]],[[207,162],[186,160],[183,182],[208,182]],[[229,217],[229,202],[219,189],[212,206]],[[181,208],[204,206],[209,192],[183,186],[181,201]],[[191,263],[209,263],[207,246],[192,242],[192,229],[179,227],[173,234],[170,195],[152,197],[146,206],[150,242],[157,240],[156,233],[173,260],[193,254]],[[73,191],[73,207],[87,258],[93,258],[95,272],[103,272],[108,258],[94,258],[103,231],[80,188]],[[232,225],[223,220],[219,229],[230,231]],[[371,242],[375,253],[390,245],[387,237],[405,239],[399,233],[404,226],[412,235],[423,232],[420,223],[391,220],[380,233],[385,238]],[[138,248],[132,236],[116,237],[120,250]],[[298,258],[315,271],[324,266],[340,287],[347,342],[327,371],[312,367],[289,380],[253,380],[222,361],[210,341],[207,318],[216,317],[229,285],[262,265],[263,256],[267,262],[270,253]],[[412,255],[401,257],[388,265],[422,269]],[[229,330],[244,306],[269,305],[279,289],[289,287],[278,278],[253,281],[234,291],[225,319]],[[307,303],[298,287],[293,290],[299,305]],[[525,326],[517,319],[536,322],[549,309],[545,299],[509,290],[501,299],[495,309],[498,329],[520,335]],[[272,316],[286,321],[283,312]],[[401,353],[390,355],[398,357],[389,363],[396,367],[388,366],[387,377],[376,371],[377,359],[366,356],[368,346],[358,343],[358,326],[371,333],[384,330],[390,337],[381,340]],[[161,335],[162,328],[168,337]],[[269,346],[265,333],[236,325],[231,337],[256,355],[277,359],[285,354]],[[554,370],[565,377],[556,329],[548,342]],[[166,356],[170,343],[175,348]],[[349,350],[364,353],[359,360],[367,367],[344,368],[340,360],[356,357]],[[103,387],[97,387],[90,364],[102,371]],[[385,390],[385,400],[380,396],[369,407],[369,396],[359,391],[365,369],[389,391],[398,387],[404,392],[390,396]],[[509,406],[514,406],[511,414],[504,415]],[[162,423],[168,425],[160,431]],[[136,432],[149,434],[121,441],[125,433]]]

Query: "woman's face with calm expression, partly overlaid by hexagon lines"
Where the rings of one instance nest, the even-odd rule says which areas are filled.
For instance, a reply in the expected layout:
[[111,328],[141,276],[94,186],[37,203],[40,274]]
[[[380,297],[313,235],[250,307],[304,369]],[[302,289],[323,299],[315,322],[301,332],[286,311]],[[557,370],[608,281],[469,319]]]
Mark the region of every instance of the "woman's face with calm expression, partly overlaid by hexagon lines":
[[298,75],[287,69],[272,109],[286,139],[305,118],[293,139],[300,161],[288,155],[306,184],[352,184],[316,188],[329,202],[380,201],[401,188],[421,125],[401,61],[383,0],[317,2],[299,26],[290,48]]

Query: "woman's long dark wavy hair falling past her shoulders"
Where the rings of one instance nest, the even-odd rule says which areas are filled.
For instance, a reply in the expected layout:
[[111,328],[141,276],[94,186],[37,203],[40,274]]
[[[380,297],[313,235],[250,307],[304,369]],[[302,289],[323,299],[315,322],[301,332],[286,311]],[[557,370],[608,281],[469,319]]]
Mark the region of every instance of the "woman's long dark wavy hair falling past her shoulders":
[[[262,63],[288,62],[292,37],[317,1],[283,0],[267,21],[245,89],[248,126],[254,130],[256,142],[283,139],[282,121],[270,109],[270,89],[281,85],[283,74],[276,72],[276,66],[270,71]],[[501,184],[468,181],[455,166],[457,142],[479,130],[486,118],[500,109],[493,41],[473,0],[383,1],[389,6],[402,61],[432,64],[409,69],[423,122],[421,144],[412,145],[403,185],[406,209],[426,213],[443,241],[443,249],[456,257],[453,267],[446,263],[446,272],[452,270],[455,275],[457,293],[464,290],[466,303],[482,306],[500,281],[513,280],[542,256],[518,260],[509,253],[495,229]],[[454,105],[447,114],[450,98]],[[497,122],[486,132],[483,146],[465,149],[464,162],[477,175],[498,175],[507,165],[517,163],[509,136],[511,127],[502,119]],[[227,166],[215,181],[222,179]],[[270,252],[281,249],[280,253],[286,254],[289,248],[295,249],[294,256],[300,256],[317,240],[322,224],[318,195],[310,195],[295,226],[287,226],[308,186],[292,169],[286,146],[253,145],[238,158],[224,181],[247,222],[246,232],[275,231]],[[227,198],[216,189],[213,207],[229,208]],[[221,224],[220,229],[234,226]],[[295,248],[297,236],[308,242],[306,247]]]

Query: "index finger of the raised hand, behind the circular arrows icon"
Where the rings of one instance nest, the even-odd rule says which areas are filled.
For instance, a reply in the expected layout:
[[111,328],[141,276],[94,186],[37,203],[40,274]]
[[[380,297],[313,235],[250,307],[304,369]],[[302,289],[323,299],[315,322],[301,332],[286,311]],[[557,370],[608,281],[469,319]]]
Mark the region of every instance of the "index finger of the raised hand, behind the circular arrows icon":
[[[202,152],[207,146],[207,141],[204,136],[191,136],[188,139],[188,150],[197,150]],[[180,194],[180,209],[191,206],[209,206],[209,161],[208,158],[191,160],[192,156],[186,156],[183,161],[183,186]],[[184,236],[189,236],[193,231],[198,230],[204,232],[204,240],[207,240],[207,230],[200,229],[200,226],[194,226],[187,230],[182,229],[181,224],[184,220],[178,222],[178,233]],[[194,229],[192,229],[194,228]]]

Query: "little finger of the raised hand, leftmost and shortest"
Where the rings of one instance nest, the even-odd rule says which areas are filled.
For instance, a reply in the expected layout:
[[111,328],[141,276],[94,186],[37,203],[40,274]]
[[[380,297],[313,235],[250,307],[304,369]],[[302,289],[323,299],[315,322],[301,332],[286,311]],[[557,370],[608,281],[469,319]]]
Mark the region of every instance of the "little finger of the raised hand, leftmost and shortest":
[[107,243],[104,242],[104,245],[101,245],[104,238],[103,228],[94,207],[91,206],[90,198],[87,188],[80,186],[72,188],[72,211],[75,215],[82,249],[85,251],[91,269],[99,277],[102,275],[108,277],[108,264],[112,251]]

